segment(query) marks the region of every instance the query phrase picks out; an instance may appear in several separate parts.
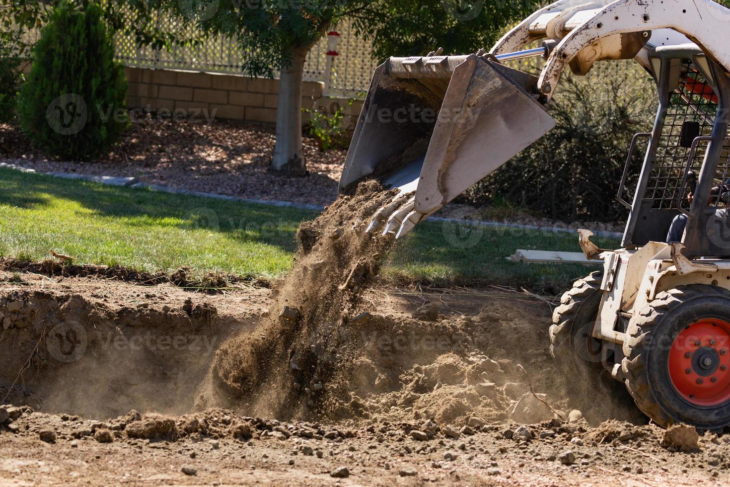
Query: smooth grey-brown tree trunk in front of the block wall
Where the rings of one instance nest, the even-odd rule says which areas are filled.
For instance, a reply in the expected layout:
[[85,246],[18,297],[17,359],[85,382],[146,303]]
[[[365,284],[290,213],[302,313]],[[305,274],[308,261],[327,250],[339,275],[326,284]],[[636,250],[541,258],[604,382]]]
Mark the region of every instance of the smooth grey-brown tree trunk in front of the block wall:
[[276,145],[269,169],[304,176],[307,165],[301,153],[301,78],[307,53],[294,50],[291,64],[281,70],[276,115]]

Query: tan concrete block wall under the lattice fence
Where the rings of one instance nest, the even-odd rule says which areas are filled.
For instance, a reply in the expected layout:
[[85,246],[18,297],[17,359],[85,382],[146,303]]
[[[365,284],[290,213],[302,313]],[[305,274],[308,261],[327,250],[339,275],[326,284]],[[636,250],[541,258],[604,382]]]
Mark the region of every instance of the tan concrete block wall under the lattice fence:
[[[130,108],[167,109],[171,112],[182,109],[189,116],[202,112],[215,118],[276,123],[279,80],[131,67],[126,68],[126,74],[129,87],[127,105]],[[314,107],[323,92],[324,83],[304,82],[301,107]],[[302,113],[302,123],[306,123],[307,119],[307,113]]]

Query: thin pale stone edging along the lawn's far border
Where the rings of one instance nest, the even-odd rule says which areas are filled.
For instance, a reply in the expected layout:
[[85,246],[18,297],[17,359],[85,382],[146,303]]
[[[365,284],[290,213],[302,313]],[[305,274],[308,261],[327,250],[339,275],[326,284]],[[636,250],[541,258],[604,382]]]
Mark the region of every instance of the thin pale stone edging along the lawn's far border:
[[[8,169],[15,169],[22,172],[37,172],[35,169],[28,169],[22,166],[16,166],[15,164],[7,164],[0,162],[0,167],[6,167]],[[249,198],[238,198],[237,196],[228,196],[225,194],[216,193],[201,193],[200,191],[189,191],[187,189],[172,188],[170,186],[140,183],[137,177],[114,177],[114,176],[93,176],[93,175],[77,175],[71,172],[37,172],[38,174],[64,177],[66,179],[73,180],[85,180],[93,183],[101,183],[115,186],[125,186],[127,188],[137,189],[148,189],[150,191],[159,191],[161,193],[174,193],[174,194],[186,194],[190,196],[199,196],[201,198],[214,198],[224,199],[231,202],[244,202],[253,204],[264,204],[273,207],[290,207],[297,208],[299,210],[315,210],[323,211],[324,207],[318,204],[305,204],[305,203],[293,203],[293,202],[282,202],[271,199],[249,199]],[[437,221],[442,223],[466,223],[472,226],[491,226],[491,227],[506,227],[510,229],[523,229],[523,230],[537,230],[537,231],[548,231],[548,232],[564,232],[564,233],[577,233],[576,229],[562,229],[556,226],[536,226],[536,225],[522,225],[520,223],[499,223],[496,221],[480,221],[480,220],[457,220],[456,218],[442,218],[442,217],[429,217],[429,221]],[[621,239],[623,234],[618,231],[604,231],[596,230],[593,231],[596,237],[607,237]]]

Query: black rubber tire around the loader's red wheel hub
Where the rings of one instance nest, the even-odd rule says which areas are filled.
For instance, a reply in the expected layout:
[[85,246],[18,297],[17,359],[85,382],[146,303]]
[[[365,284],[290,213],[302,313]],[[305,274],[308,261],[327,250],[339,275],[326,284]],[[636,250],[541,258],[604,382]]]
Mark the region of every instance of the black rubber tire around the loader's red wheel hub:
[[709,284],[677,286],[659,293],[629,321],[621,362],[626,388],[640,410],[660,426],[687,423],[698,429],[730,425],[730,400],[702,407],[683,399],[669,378],[669,346],[700,318],[730,321],[730,291]]

